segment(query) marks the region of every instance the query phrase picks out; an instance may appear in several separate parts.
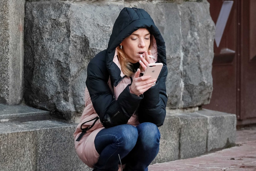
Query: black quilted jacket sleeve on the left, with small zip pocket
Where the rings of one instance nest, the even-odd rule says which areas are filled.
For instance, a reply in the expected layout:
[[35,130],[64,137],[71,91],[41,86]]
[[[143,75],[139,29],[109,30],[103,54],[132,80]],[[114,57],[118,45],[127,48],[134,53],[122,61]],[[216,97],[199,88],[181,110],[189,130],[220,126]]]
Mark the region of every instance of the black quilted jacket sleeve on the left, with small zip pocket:
[[109,128],[127,123],[142,97],[131,94],[128,85],[115,100],[108,86],[109,74],[105,65],[105,61],[99,57],[91,60],[87,68],[86,86],[101,123]]

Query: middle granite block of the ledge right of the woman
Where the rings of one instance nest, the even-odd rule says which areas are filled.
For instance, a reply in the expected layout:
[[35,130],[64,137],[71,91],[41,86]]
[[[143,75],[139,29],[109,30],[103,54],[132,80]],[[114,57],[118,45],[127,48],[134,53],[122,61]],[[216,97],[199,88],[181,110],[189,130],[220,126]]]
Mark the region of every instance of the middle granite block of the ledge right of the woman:
[[186,159],[206,152],[207,118],[195,112],[174,114],[179,117],[179,159]]

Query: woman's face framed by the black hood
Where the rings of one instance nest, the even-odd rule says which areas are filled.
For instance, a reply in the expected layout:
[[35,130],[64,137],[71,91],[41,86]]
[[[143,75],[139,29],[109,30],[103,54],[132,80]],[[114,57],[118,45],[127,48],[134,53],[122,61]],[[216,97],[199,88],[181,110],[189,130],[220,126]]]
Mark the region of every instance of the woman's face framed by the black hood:
[[120,45],[123,46],[122,49],[129,62],[139,62],[140,55],[145,57],[144,52],[148,51],[150,33],[148,29],[140,28],[126,37]]

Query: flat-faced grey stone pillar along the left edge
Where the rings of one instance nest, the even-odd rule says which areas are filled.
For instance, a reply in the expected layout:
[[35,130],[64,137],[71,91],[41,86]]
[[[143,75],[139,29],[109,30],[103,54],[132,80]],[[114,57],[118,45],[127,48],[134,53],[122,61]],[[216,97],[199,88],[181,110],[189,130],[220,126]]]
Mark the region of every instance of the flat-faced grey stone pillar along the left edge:
[[19,104],[24,90],[25,0],[0,4],[0,103]]

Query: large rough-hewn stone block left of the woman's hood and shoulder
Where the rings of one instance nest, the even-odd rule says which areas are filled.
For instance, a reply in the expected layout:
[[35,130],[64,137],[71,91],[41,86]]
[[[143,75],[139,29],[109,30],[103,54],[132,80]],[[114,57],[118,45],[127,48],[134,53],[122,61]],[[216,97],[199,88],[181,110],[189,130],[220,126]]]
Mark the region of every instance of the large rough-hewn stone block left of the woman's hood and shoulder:
[[70,119],[83,110],[86,67],[107,47],[117,16],[86,4],[26,3],[26,11],[26,103]]

